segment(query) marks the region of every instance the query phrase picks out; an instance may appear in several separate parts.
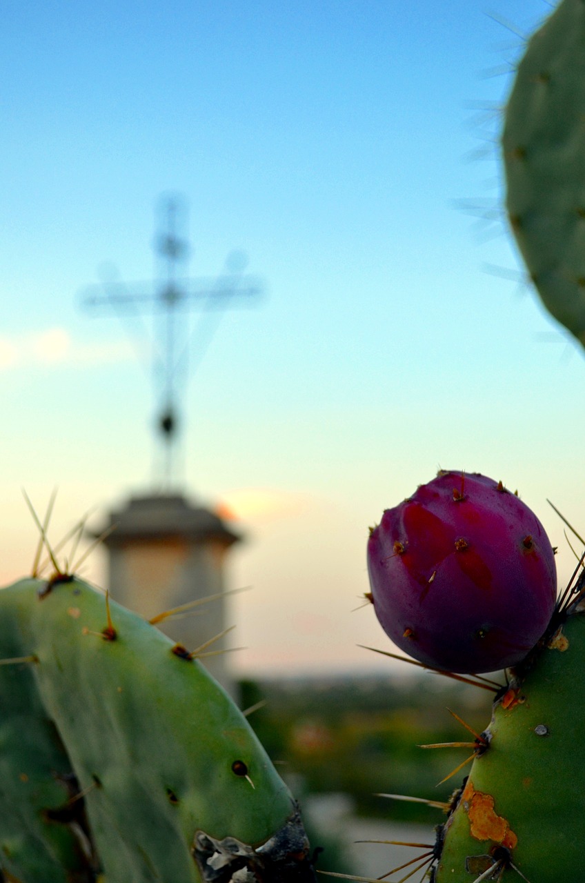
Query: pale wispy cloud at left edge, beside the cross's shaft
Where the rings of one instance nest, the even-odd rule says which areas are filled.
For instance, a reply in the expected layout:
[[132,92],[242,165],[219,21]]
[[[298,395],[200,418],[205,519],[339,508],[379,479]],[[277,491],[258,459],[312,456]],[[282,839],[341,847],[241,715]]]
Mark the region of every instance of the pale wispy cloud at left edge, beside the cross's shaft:
[[0,336],[0,371],[22,366],[93,366],[136,358],[131,343],[79,343],[65,328]]

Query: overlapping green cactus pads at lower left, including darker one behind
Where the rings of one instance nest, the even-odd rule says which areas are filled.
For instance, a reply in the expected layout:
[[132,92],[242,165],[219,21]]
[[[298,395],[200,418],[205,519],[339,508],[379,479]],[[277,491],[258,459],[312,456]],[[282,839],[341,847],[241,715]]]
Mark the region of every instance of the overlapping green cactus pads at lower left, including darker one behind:
[[296,804],[184,647],[78,578],[0,591],[0,868],[19,883],[313,879]]

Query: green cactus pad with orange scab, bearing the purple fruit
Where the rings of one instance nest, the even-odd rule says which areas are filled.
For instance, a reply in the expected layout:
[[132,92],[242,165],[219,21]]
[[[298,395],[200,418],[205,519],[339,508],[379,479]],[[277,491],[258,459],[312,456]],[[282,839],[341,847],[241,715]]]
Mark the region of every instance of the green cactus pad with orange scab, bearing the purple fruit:
[[585,615],[574,614],[495,704],[489,747],[444,827],[437,883],[472,883],[498,859],[503,883],[582,878],[583,697]]

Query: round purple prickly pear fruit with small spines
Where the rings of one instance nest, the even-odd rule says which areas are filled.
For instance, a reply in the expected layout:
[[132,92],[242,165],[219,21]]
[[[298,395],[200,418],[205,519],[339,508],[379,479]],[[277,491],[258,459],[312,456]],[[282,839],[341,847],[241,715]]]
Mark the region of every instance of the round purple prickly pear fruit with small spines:
[[519,663],[557,596],[543,525],[477,472],[439,472],[386,509],[368,540],[368,573],[389,638],[429,668],[460,673]]

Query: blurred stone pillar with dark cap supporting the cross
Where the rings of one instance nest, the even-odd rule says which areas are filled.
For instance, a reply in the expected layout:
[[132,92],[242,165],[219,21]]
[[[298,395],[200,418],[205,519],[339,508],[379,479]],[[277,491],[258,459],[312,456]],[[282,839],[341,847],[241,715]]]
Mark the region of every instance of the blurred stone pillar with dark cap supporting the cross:
[[[151,619],[190,601],[220,595],[184,615],[164,619],[158,627],[189,652],[225,629],[224,559],[241,537],[217,513],[180,494],[136,496],[110,512],[105,526],[114,528],[104,540],[112,599]],[[203,652],[225,645],[221,639]],[[201,661],[233,695],[225,654]]]

